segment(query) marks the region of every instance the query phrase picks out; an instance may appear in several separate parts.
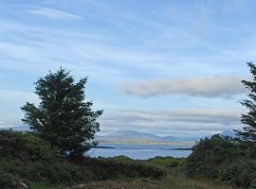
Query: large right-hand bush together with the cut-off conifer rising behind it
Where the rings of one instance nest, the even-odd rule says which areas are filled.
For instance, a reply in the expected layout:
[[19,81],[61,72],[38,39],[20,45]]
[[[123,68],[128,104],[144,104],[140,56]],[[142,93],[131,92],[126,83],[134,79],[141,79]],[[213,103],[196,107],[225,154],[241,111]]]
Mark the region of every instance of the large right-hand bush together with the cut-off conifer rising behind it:
[[253,80],[242,81],[249,90],[249,99],[242,102],[249,110],[241,117],[244,130],[237,130],[236,138],[215,135],[193,146],[187,160],[190,176],[256,188],[256,66],[252,62],[248,66]]

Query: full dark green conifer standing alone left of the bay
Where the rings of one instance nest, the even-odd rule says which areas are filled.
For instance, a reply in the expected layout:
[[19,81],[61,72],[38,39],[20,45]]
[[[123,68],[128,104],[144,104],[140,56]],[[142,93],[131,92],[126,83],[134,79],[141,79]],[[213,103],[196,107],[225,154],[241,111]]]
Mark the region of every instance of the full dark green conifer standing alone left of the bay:
[[26,103],[22,121],[52,146],[61,149],[64,156],[82,156],[91,146],[100,130],[97,118],[102,111],[92,111],[90,101],[84,101],[87,77],[75,83],[63,68],[35,82],[35,94],[41,102],[38,107]]

